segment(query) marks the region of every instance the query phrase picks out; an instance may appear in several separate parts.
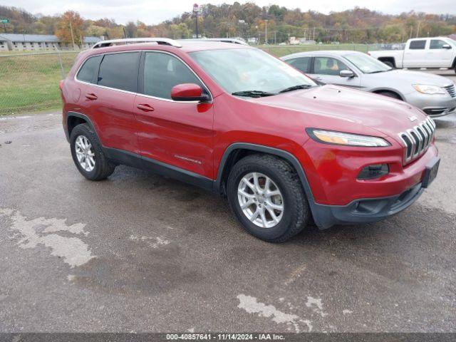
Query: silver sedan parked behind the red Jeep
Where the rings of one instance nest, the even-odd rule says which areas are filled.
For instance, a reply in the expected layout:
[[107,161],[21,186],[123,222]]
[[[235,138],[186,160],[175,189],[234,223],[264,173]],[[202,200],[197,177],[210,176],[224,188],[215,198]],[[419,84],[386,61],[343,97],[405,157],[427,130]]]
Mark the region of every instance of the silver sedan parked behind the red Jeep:
[[456,113],[455,83],[442,76],[395,70],[356,51],[301,52],[282,59],[316,81],[404,100],[432,117]]

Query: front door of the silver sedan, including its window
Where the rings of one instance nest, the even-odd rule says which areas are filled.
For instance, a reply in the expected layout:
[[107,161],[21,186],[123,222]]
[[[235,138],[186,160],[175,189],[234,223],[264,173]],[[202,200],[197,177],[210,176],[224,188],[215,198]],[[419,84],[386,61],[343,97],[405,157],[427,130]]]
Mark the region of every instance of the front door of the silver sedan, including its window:
[[358,76],[341,77],[340,73],[342,70],[351,69],[348,68],[348,66],[346,66],[345,63],[339,61],[336,58],[316,56],[314,58],[314,66],[313,68],[311,68],[311,73],[309,73],[309,76],[323,83],[336,84],[338,86],[346,86],[352,88],[360,88],[360,78]]

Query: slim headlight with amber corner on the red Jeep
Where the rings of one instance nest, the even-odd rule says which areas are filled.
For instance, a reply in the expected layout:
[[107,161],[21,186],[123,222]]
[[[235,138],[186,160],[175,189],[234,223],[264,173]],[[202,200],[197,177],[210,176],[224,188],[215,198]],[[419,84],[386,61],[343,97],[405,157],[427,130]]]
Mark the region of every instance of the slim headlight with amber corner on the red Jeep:
[[383,138],[371,137],[370,135],[358,135],[331,130],[306,129],[310,137],[318,142],[333,145],[362,146],[362,147],[385,147],[390,143]]

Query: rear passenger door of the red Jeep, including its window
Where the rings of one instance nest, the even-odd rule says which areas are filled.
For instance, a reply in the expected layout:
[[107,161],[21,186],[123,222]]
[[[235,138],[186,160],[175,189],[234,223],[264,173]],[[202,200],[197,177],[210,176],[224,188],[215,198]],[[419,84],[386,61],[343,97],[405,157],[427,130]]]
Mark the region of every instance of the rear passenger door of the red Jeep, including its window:
[[138,152],[133,105],[138,91],[139,52],[106,53],[96,85],[85,90],[90,118],[105,147]]

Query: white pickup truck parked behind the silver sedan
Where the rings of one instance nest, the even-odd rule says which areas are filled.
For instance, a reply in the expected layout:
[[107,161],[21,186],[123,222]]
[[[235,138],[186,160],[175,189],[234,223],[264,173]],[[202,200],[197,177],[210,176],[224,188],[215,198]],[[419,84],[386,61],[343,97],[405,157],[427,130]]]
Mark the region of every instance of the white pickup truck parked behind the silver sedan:
[[456,72],[456,41],[447,37],[413,38],[405,50],[369,51],[392,68],[453,68]]

